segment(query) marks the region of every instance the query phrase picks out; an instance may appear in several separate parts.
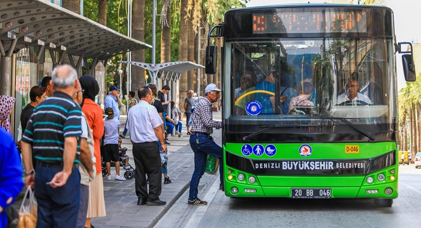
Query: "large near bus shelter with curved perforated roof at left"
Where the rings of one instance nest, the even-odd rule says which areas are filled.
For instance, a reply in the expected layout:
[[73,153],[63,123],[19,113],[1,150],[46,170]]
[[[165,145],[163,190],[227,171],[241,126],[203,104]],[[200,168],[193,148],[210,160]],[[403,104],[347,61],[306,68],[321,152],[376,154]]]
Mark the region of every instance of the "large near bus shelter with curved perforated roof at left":
[[16,97],[10,119],[13,131],[20,125],[22,107],[18,104],[28,102],[29,90],[39,82],[41,68],[37,61],[35,76],[29,74],[28,79],[22,79],[28,82],[23,82],[23,90],[16,90],[22,88],[16,78],[16,53],[20,50],[30,50],[38,59],[49,54],[53,67],[66,61],[79,68],[83,60],[87,73],[94,76],[98,61],[106,65],[111,57],[146,48],[152,46],[47,0],[0,0],[0,95]]

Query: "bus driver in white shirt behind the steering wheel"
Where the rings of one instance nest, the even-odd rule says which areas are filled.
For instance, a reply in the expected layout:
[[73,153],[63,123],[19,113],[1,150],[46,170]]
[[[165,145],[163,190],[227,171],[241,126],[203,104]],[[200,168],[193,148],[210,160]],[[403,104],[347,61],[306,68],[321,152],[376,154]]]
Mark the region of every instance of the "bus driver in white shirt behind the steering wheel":
[[358,79],[356,77],[350,78],[345,88],[346,92],[338,96],[335,105],[347,105],[352,103],[355,103],[356,105],[372,104],[372,102],[366,95],[358,92],[359,86]]

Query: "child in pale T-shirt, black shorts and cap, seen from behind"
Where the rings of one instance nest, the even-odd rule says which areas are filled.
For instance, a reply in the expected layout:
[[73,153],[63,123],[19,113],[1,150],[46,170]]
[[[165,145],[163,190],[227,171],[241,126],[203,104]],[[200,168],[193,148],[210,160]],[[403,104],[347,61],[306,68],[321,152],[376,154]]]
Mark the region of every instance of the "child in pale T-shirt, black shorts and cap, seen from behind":
[[120,175],[120,155],[118,153],[118,129],[120,121],[114,117],[111,107],[105,109],[103,162],[106,164],[106,180],[111,180],[111,161],[115,162],[115,180],[126,180]]

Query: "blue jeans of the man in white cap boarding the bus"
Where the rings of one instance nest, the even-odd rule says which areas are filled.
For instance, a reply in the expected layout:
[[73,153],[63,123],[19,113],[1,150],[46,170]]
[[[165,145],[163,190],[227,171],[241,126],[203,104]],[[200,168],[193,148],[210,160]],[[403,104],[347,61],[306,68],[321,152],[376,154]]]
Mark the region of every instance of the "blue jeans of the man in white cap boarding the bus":
[[[197,140],[199,139],[199,143]],[[204,133],[196,132],[190,135],[190,147],[195,153],[195,170],[193,171],[192,180],[190,181],[189,200],[197,199],[199,181],[205,173],[206,159],[212,155],[219,159],[219,178],[221,184],[223,183],[223,161],[222,148],[218,146],[210,136]]]

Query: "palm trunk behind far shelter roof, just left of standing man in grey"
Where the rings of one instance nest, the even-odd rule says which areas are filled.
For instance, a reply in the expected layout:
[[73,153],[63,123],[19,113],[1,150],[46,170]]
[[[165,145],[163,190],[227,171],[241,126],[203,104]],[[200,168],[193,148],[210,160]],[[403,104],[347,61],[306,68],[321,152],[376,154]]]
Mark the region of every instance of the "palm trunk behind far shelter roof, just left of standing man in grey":
[[[187,14],[187,2],[188,0],[181,0],[181,7],[180,7],[180,41],[179,41],[179,47],[178,47],[178,60],[179,61],[187,61],[187,39],[188,39],[188,23],[186,19],[184,18]],[[181,104],[184,104],[184,99],[186,99],[187,96],[187,73],[181,74],[181,77],[179,79],[179,104],[178,107],[181,112],[184,112],[184,108]]]

